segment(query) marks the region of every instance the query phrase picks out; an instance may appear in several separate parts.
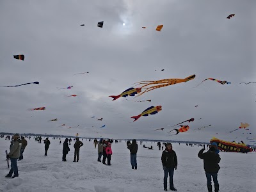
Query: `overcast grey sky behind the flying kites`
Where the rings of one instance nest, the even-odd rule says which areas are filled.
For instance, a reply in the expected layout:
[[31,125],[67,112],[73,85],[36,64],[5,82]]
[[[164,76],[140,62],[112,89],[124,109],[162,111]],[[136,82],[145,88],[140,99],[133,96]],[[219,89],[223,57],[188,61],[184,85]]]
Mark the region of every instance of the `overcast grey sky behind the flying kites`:
[[[232,13],[235,17],[226,19]],[[40,84],[0,87],[0,132],[184,141],[255,138],[256,84],[239,84],[256,81],[253,13],[253,0],[2,0],[0,85]],[[156,31],[160,24],[161,32]],[[13,59],[15,54],[24,54],[25,60]],[[89,74],[72,76],[79,72]],[[140,97],[108,97],[138,81],[193,74],[187,83]],[[207,80],[195,88],[208,77],[231,84]],[[74,88],[56,89],[68,86]],[[67,97],[72,94],[78,96]],[[130,101],[147,99],[152,101]],[[43,106],[45,111],[27,110]],[[131,116],[150,106],[163,110],[133,122]],[[54,118],[58,121],[48,122]],[[183,124],[188,132],[166,137],[170,125],[190,118],[202,119]],[[250,130],[226,134],[241,122]]]

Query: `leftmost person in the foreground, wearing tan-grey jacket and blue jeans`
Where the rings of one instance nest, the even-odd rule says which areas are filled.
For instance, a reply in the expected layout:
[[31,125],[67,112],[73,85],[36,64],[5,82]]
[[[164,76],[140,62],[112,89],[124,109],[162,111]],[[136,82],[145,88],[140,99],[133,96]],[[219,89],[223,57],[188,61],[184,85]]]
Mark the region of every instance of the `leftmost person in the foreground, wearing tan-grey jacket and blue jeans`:
[[[13,136],[13,141],[12,141],[13,144],[11,144],[10,152],[6,156],[7,161],[9,161],[8,160],[9,158],[11,159],[11,170],[8,173],[8,175],[6,175],[5,177],[12,177],[12,178],[19,177],[17,159],[20,157],[20,149],[22,145],[22,143],[20,143],[19,137],[20,136],[17,133]],[[14,172],[14,175],[12,176],[13,172]]]

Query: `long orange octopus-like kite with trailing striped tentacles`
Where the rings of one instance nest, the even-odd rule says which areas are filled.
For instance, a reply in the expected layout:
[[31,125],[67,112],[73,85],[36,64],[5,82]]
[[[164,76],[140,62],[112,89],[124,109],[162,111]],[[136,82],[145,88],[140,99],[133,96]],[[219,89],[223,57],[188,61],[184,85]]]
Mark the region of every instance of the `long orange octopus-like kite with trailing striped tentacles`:
[[[144,88],[146,90],[144,92],[141,92],[136,97],[139,97],[143,93],[150,92],[151,90],[154,90],[156,88],[161,88],[161,87],[169,86],[169,85],[172,85],[172,84],[177,84],[177,83],[190,81],[190,80],[194,79],[195,77],[196,77],[196,75],[192,75],[192,76],[186,77],[185,79],[161,79],[161,80],[158,80],[158,81],[140,81],[140,82],[137,82],[136,85],[144,84],[143,86],[141,86],[141,88]],[[159,84],[159,85],[154,85],[154,86],[150,86],[148,88],[145,88],[145,86],[148,86],[150,84]]]

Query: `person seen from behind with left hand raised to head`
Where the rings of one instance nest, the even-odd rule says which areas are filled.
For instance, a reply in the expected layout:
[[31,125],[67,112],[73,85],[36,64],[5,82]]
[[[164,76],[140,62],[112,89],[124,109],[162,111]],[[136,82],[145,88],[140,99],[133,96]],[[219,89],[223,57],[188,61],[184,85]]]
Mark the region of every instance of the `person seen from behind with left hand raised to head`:
[[205,148],[202,148],[199,153],[198,157],[200,159],[204,159],[204,170],[207,179],[207,188],[209,192],[212,192],[212,181],[211,177],[214,182],[214,189],[215,192],[219,191],[219,182],[218,182],[218,172],[220,170],[220,155],[216,154],[216,147],[211,145],[208,152],[203,153]]

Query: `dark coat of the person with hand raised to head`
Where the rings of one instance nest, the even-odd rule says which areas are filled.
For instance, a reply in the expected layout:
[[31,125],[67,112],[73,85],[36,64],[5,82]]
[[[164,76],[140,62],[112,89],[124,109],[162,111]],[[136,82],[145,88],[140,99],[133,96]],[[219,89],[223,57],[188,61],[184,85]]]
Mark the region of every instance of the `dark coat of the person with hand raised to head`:
[[207,173],[218,173],[220,170],[220,155],[216,154],[216,152],[209,150],[204,153],[204,148],[200,150],[198,153],[198,157],[200,159],[204,159],[204,170]]

